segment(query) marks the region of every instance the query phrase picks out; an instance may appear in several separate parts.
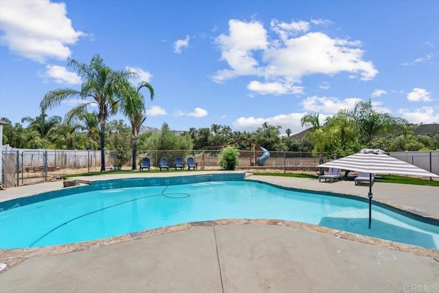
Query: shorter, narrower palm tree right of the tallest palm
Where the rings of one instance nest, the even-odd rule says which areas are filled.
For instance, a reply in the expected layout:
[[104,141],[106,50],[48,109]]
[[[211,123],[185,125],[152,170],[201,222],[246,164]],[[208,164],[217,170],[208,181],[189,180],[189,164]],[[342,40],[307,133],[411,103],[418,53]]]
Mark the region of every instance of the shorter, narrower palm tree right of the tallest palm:
[[130,119],[131,124],[131,141],[132,141],[132,169],[137,169],[137,143],[139,141],[139,132],[145,116],[145,100],[140,92],[141,89],[150,90],[151,100],[154,99],[154,89],[147,82],[140,82],[137,88],[126,83],[126,91],[123,94],[121,108],[123,114]]

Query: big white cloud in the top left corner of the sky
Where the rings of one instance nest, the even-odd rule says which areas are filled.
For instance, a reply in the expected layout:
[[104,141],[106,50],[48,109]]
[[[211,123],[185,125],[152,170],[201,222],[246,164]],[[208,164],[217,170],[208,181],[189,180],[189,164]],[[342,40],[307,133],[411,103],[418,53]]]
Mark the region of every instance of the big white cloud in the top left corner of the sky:
[[1,1],[0,23],[1,44],[37,62],[67,59],[69,45],[85,36],[73,29],[65,3],[49,0]]

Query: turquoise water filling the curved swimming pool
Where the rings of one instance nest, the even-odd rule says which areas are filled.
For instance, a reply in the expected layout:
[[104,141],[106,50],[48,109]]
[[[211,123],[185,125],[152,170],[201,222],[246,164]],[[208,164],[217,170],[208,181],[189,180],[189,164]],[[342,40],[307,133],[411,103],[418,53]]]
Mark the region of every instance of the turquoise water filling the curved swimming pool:
[[68,244],[185,222],[226,218],[319,224],[381,239],[439,248],[439,226],[359,200],[252,181],[112,188],[0,212],[0,248]]

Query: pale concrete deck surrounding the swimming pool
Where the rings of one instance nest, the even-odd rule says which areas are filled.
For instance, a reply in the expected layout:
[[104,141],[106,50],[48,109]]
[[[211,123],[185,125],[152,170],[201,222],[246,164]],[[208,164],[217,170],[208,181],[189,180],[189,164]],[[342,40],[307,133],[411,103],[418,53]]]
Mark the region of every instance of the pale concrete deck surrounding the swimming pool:
[[[196,172],[196,174],[209,172]],[[108,174],[191,175],[184,172]],[[367,198],[353,181],[247,176]],[[0,191],[0,201],[62,181]],[[69,187],[74,188],[74,187]],[[375,183],[373,200],[439,218],[439,187]],[[372,220],[373,224],[373,220]],[[1,241],[1,239],[0,239]],[[0,292],[438,292],[439,250],[278,220],[217,220],[53,248],[0,250]]]

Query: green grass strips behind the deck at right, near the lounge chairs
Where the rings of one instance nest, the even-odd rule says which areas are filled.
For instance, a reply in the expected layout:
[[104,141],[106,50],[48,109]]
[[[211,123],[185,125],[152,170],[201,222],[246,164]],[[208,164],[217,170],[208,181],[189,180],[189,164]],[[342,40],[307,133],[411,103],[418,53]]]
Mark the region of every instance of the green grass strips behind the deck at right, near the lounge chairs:
[[[318,178],[316,175],[306,174],[306,173],[253,173],[253,175],[259,176],[283,176],[283,177],[296,177],[296,178]],[[399,184],[411,184],[411,185],[425,185],[425,186],[438,186],[439,181],[430,180],[429,178],[420,179],[404,176],[395,175],[379,175],[380,178],[375,178],[376,182],[382,183],[399,183]],[[348,179],[343,178],[343,180],[353,180],[355,177],[350,177]]]

